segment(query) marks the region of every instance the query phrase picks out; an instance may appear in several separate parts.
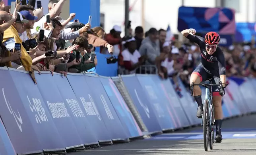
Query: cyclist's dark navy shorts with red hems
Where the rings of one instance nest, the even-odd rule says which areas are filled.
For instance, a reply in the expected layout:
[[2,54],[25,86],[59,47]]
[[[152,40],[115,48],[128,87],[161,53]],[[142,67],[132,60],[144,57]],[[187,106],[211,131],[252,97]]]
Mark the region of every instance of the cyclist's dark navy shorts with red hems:
[[[196,69],[192,72],[192,74],[197,74],[200,77],[201,83],[206,81],[209,78],[212,78],[213,84],[219,83],[220,78],[217,76],[214,76],[213,74],[206,71],[206,69],[203,66],[197,66]],[[219,87],[218,86],[212,86],[212,95],[213,96],[221,96],[219,95]]]

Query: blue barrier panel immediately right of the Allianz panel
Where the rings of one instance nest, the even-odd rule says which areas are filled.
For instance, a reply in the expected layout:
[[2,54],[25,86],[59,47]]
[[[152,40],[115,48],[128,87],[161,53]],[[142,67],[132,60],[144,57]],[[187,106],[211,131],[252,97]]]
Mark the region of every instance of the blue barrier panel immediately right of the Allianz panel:
[[111,133],[112,140],[125,140],[128,138],[128,133],[125,132],[118,115],[116,114],[101,80],[96,76],[84,76],[90,91],[93,92],[92,96],[95,98],[96,106],[101,113],[103,121],[107,130]]

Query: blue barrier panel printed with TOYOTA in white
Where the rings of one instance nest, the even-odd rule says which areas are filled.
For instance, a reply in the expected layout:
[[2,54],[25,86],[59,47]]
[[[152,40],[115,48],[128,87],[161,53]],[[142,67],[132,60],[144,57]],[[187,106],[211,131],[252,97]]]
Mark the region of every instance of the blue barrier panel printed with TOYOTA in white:
[[76,125],[83,144],[97,144],[98,140],[90,127],[90,123],[87,120],[88,118],[86,118],[86,112],[83,108],[83,104],[81,104],[81,100],[76,98],[68,79],[61,75],[54,75],[54,81],[62,98],[64,99],[68,113],[71,114],[71,118]]

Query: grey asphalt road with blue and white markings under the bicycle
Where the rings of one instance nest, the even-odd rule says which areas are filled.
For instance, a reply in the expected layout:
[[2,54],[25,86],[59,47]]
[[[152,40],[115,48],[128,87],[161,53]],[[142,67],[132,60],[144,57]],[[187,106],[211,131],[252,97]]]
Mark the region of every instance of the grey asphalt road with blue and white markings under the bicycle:
[[250,134],[246,138],[233,138],[232,136],[225,138],[220,144],[214,143],[213,150],[209,149],[208,152],[204,151],[202,138],[190,140],[170,138],[175,135],[202,133],[202,127],[195,127],[149,139],[134,140],[130,143],[77,151],[68,153],[68,155],[256,155],[256,115],[225,120],[222,132],[227,135],[255,133],[255,136]]

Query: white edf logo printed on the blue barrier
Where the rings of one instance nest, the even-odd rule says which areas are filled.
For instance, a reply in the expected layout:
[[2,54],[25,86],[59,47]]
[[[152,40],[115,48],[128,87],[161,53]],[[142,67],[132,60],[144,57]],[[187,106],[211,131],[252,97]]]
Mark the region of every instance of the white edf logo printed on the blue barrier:
[[41,122],[48,122],[47,115],[45,113],[45,108],[43,108],[41,100],[38,98],[32,98],[32,103],[29,100],[29,96],[27,96],[27,100],[29,102],[29,108],[31,112],[35,112],[35,121],[37,121],[37,124],[41,124]]

